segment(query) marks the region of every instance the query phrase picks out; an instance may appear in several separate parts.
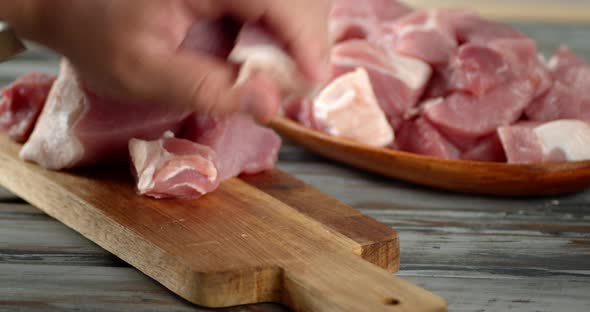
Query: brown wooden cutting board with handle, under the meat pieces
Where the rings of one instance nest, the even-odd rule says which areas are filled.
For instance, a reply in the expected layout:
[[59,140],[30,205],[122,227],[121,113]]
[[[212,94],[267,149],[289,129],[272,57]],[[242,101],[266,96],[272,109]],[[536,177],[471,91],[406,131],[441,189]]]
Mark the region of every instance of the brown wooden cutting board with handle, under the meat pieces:
[[127,168],[52,172],[19,149],[0,135],[0,184],[195,304],[446,311],[391,274],[393,230],[279,170],[198,200],[153,200]]

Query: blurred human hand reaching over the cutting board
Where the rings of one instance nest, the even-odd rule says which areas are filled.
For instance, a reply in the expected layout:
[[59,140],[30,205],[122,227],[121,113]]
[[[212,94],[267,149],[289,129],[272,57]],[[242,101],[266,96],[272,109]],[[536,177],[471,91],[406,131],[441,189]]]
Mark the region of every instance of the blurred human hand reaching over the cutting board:
[[268,121],[280,101],[273,81],[255,76],[235,86],[236,69],[226,59],[179,49],[188,30],[195,21],[222,16],[261,22],[285,44],[301,72],[318,81],[327,70],[329,2],[22,0],[26,10],[11,22],[23,36],[68,57],[96,93],[204,113],[246,110]]

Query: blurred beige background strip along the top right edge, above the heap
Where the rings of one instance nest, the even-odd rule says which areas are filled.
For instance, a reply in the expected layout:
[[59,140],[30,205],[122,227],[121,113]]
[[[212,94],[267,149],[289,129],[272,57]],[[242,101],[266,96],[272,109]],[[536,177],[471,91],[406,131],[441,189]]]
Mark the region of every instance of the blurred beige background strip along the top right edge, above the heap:
[[590,0],[404,0],[420,7],[471,7],[505,20],[590,23]]

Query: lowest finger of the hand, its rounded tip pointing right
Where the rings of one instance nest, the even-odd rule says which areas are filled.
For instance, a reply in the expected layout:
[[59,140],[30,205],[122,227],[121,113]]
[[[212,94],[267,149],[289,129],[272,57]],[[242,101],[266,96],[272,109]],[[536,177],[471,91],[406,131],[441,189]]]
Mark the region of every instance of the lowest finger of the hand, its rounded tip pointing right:
[[155,59],[146,66],[149,77],[159,77],[150,89],[164,103],[172,101],[202,114],[242,111],[261,122],[270,120],[278,109],[279,91],[272,81],[254,76],[236,85],[236,68],[214,57],[179,52],[165,61]]

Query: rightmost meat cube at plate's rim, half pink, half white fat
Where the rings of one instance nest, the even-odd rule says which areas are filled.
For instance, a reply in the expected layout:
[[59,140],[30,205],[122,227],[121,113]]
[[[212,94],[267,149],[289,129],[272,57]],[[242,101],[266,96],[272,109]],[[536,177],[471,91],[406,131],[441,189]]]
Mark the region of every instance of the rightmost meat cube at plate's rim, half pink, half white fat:
[[509,163],[590,160],[590,125],[581,120],[525,123],[498,129]]

